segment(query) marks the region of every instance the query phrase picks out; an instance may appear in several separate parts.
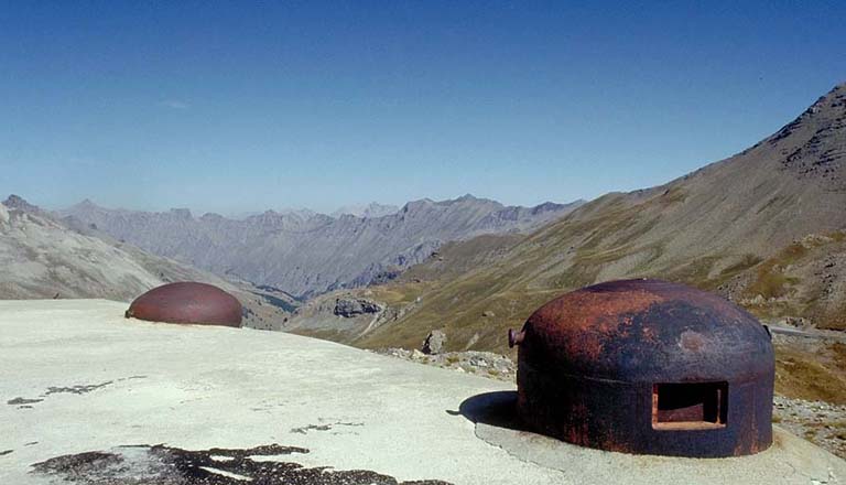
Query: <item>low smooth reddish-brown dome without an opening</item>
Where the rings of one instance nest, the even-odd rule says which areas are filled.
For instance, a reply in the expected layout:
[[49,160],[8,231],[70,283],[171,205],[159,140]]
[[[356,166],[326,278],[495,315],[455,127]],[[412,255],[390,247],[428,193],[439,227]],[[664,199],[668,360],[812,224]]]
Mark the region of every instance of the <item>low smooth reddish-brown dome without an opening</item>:
[[126,316],[152,322],[241,326],[241,303],[212,284],[169,283],[137,298]]

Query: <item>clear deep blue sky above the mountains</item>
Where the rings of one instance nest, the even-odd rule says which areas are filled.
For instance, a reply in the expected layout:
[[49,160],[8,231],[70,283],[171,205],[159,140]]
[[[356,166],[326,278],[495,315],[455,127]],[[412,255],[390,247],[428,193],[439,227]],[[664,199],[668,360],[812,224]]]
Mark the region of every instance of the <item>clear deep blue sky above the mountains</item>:
[[655,185],[846,80],[846,2],[0,1],[0,193],[238,213]]

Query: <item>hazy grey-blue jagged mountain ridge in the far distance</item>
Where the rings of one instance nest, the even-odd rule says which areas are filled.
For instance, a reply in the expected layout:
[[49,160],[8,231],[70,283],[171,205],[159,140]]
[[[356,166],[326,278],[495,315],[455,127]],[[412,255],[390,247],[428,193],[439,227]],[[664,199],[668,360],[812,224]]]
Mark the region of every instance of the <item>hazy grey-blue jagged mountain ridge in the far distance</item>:
[[194,217],[188,209],[107,209],[84,201],[58,214],[160,256],[310,297],[391,279],[446,241],[528,231],[581,204],[503,206],[468,194],[452,201],[410,202],[378,217],[368,214],[391,208],[371,204],[364,216],[337,217],[267,211],[230,219],[217,214]]

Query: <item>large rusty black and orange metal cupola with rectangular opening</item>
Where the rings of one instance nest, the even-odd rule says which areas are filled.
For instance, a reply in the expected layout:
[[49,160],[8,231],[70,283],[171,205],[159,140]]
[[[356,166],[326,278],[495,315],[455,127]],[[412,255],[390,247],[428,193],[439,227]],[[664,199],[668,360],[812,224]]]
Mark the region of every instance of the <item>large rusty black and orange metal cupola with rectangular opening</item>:
[[519,333],[518,413],[571,443],[718,457],[772,443],[774,358],[753,316],[657,280],[564,294]]

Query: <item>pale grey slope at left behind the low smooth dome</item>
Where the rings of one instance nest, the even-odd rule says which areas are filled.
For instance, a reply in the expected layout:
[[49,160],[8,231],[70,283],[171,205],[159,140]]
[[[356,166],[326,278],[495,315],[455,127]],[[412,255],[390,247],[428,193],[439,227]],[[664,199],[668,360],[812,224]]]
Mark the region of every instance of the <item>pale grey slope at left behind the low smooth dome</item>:
[[296,302],[272,288],[210,272],[111,239],[73,217],[57,219],[12,195],[0,203],[0,299],[102,298],[131,301],[173,281],[202,281],[232,293],[245,324],[269,328]]

